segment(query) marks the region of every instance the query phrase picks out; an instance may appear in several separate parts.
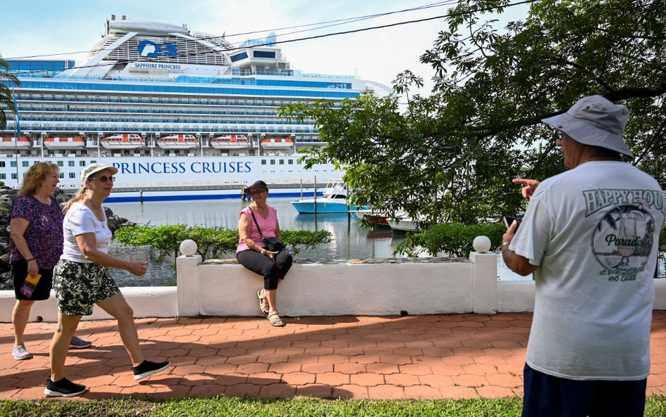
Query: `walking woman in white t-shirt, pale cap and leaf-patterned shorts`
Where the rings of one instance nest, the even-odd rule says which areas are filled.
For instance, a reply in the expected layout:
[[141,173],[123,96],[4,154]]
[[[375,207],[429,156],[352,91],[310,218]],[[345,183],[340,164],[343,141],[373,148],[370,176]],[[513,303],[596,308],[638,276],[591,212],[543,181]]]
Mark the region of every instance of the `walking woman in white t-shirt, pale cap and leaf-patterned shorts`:
[[81,172],[83,187],[67,202],[65,212],[65,245],[60,262],[53,271],[53,288],[58,300],[58,327],[51,340],[51,378],[46,381],[48,397],[72,397],[86,390],[85,385],[65,378],[67,342],[76,331],[81,316],[93,313],[93,304],[118,321],[120,338],[132,361],[134,379],[164,371],[169,362],[152,362],[143,357],[133,311],[109,268],[125,269],[136,276],[146,271],[147,262],[123,260],[107,254],[111,231],[102,202],[113,188],[118,169],[91,164]]

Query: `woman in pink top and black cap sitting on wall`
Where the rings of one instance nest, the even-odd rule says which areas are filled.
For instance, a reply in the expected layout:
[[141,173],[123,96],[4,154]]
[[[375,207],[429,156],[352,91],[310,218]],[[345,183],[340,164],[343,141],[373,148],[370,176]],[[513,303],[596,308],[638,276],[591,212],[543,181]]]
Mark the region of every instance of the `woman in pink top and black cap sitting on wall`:
[[[261,238],[261,234],[265,238],[282,238],[278,210],[266,204],[268,198],[266,183],[256,181],[245,188],[244,192],[252,195],[254,203],[240,212],[238,220],[240,239],[236,248],[236,259],[243,267],[263,276],[263,288],[256,293],[259,298],[259,308],[268,317],[272,326],[285,326],[285,322],[278,314],[276,295],[278,282],[280,279],[285,279],[289,268],[292,267],[292,255],[286,250],[281,252],[266,250],[266,243]],[[261,227],[261,233],[257,225]]]

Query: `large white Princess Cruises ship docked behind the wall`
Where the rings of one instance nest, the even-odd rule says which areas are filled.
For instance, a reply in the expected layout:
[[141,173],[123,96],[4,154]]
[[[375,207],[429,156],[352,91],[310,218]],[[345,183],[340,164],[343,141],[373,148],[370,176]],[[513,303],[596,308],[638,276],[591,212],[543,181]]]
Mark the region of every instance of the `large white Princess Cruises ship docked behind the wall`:
[[238,198],[257,179],[273,195],[308,195],[343,173],[332,164],[304,169],[297,151],[326,143],[312,121],[278,117],[276,108],[391,92],[292,69],[273,32],[234,46],[187,25],[112,15],[105,26],[82,65],[8,60],[21,84],[11,86],[18,118],[7,114],[0,131],[7,186],[50,160],[72,191],[91,162],[117,167],[110,202]]

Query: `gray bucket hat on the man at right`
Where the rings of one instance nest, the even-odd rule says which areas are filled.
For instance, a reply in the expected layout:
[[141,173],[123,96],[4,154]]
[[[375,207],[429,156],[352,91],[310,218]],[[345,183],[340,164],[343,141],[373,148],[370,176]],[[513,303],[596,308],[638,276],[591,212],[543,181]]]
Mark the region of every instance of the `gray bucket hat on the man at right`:
[[583,97],[566,113],[542,122],[563,131],[585,145],[600,146],[634,158],[622,135],[629,119],[629,109],[613,104],[602,96]]

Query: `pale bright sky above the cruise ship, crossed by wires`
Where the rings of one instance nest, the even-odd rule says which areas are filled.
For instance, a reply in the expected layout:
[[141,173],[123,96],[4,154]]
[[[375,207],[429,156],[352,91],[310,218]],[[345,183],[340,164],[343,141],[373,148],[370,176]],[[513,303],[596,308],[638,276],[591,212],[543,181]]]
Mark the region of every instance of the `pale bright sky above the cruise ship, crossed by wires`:
[[[450,4],[452,0],[22,0],[7,1],[0,8],[0,55],[5,59],[74,59],[86,62],[87,51],[105,33],[105,23],[112,14],[120,19],[154,20],[187,24],[191,30],[226,34],[232,42],[265,37],[271,30],[278,41],[343,32],[363,27],[389,25],[445,15],[450,6],[361,20],[320,30],[289,33],[283,27],[311,25],[332,20],[401,11],[432,4]],[[508,10],[508,9],[507,9]],[[522,20],[527,8],[518,6],[501,16],[502,20]],[[445,19],[398,25],[332,37],[295,41],[282,45],[282,54],[292,69],[329,75],[358,75],[387,86],[403,70],[411,70],[424,79],[424,94],[432,86],[433,70],[419,62],[430,49]],[[231,36],[233,34],[247,34]],[[58,55],[55,55],[58,54]],[[39,57],[39,58],[37,58]]]

